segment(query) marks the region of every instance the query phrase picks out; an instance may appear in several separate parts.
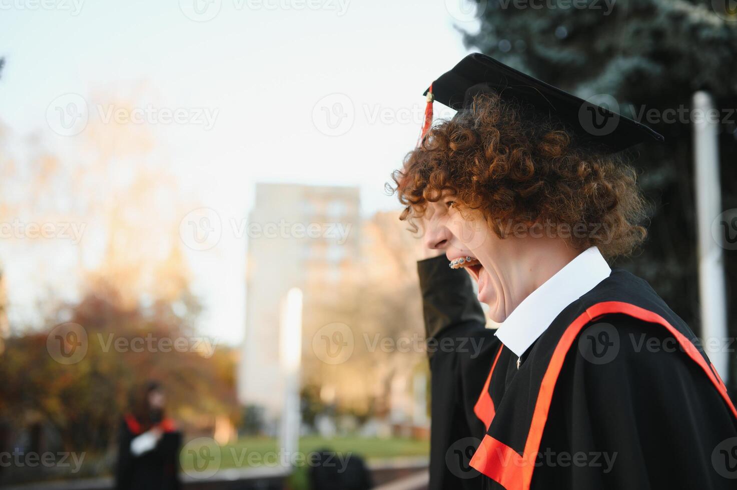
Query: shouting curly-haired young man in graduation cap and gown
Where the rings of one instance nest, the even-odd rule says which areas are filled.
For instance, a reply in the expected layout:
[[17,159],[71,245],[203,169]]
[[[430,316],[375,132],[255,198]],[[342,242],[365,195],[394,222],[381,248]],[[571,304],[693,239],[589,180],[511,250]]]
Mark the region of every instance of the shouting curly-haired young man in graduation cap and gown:
[[431,488],[733,488],[737,410],[719,374],[652,288],[607,262],[645,236],[617,152],[662,137],[484,55],[429,93],[458,114],[427,121],[395,180],[402,217],[445,252],[419,263]]

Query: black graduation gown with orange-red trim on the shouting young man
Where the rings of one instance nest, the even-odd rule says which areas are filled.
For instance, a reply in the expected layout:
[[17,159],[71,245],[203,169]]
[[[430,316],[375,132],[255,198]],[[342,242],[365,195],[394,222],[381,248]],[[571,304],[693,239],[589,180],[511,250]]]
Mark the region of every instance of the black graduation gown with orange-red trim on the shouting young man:
[[737,410],[645,281],[612,270],[518,358],[447,264],[418,264],[431,489],[737,488]]

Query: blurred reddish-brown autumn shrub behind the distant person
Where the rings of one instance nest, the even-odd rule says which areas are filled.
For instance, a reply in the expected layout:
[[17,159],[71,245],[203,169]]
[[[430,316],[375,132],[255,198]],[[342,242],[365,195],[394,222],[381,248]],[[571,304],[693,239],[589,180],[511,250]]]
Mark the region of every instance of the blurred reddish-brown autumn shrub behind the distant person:
[[[60,307],[48,329],[8,337],[0,355],[0,423],[11,430],[0,444],[43,424],[58,434],[59,449],[105,450],[130,391],[147,379],[163,382],[169,415],[185,430],[211,430],[216,416],[236,420],[234,352],[198,335],[196,312],[193,298],[123,307],[114,289],[100,287]],[[62,319],[86,335],[84,356],[71,364],[58,361],[54,339],[47,343]]]

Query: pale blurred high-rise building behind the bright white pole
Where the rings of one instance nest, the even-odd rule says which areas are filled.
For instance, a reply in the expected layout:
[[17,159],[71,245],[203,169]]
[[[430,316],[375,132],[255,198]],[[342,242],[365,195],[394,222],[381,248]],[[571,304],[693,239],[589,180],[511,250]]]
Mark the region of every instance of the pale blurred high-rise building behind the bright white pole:
[[304,291],[304,310],[317,295],[338,290],[359,256],[359,189],[259,183],[248,219],[245,340],[238,398],[270,424],[283,402],[279,362],[280,304]]

